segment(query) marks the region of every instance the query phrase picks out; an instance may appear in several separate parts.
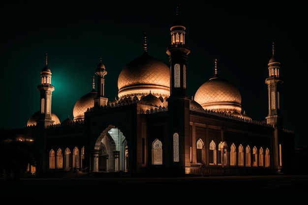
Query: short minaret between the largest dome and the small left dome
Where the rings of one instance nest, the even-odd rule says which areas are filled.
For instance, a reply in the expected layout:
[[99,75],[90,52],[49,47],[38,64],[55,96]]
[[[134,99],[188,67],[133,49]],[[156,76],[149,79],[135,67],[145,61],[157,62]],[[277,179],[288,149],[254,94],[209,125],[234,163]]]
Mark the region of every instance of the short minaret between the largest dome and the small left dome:
[[97,64],[95,75],[97,75],[97,97],[94,99],[94,107],[105,106],[108,103],[108,98],[105,97],[104,79],[104,76],[107,75],[107,71],[105,65],[102,63],[101,57]]

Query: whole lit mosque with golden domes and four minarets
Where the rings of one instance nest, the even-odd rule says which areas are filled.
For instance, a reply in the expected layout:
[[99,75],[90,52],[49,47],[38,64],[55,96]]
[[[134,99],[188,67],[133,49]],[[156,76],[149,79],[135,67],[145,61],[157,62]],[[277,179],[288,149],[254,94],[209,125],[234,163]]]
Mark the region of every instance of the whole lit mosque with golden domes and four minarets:
[[[144,52],[122,69],[118,98],[105,97],[107,69],[93,69],[92,91],[81,94],[73,118],[52,113],[52,71],[40,71],[39,111],[15,140],[31,141],[36,176],[67,173],[135,176],[269,175],[292,170],[294,132],[282,127],[280,62],[269,58],[268,116],[256,121],[241,107],[241,93],[218,75],[186,93],[186,28],[178,8],[166,49],[170,65]],[[189,33],[187,33],[189,35]],[[39,72],[39,71],[38,71]],[[37,99],[37,100],[38,100]],[[34,99],[35,100],[35,99]]]

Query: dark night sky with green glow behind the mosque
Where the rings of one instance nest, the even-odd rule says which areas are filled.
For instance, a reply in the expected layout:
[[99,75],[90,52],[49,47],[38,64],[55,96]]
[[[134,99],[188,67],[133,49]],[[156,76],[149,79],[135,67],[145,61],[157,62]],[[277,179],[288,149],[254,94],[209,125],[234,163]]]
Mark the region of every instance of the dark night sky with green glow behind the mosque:
[[[39,110],[40,71],[52,71],[52,112],[61,121],[76,101],[92,90],[100,56],[108,74],[105,97],[118,93],[123,67],[143,53],[169,65],[166,48],[179,4],[186,26],[187,94],[214,75],[228,79],[242,94],[242,109],[255,120],[268,115],[267,63],[279,59],[281,115],[296,133],[296,146],[308,145],[305,133],[308,31],[301,1],[57,1],[21,0],[0,4],[1,128],[27,125]],[[303,92],[303,93],[302,93]],[[304,110],[305,111],[305,110]]]

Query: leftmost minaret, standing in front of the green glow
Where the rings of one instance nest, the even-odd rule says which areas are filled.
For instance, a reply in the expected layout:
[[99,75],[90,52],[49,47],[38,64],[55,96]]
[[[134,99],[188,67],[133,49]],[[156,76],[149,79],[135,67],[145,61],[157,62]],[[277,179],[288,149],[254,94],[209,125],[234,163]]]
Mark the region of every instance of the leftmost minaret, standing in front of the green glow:
[[55,122],[51,118],[51,96],[55,87],[51,85],[51,71],[47,66],[47,60],[46,54],[46,65],[41,71],[41,84],[37,86],[40,92],[40,117],[37,120],[37,124],[43,124],[44,127]]

